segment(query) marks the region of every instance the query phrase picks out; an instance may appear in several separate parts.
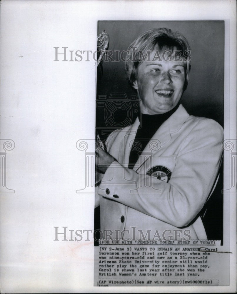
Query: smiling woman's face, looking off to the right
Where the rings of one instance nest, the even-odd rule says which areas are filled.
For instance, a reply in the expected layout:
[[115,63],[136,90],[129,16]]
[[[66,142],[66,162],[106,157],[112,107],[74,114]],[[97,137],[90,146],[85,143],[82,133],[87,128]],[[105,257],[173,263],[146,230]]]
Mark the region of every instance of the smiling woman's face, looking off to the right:
[[[137,68],[133,87],[141,99],[141,113],[161,114],[173,109],[181,99],[185,83],[185,63],[174,55],[156,58],[154,49]],[[161,54],[162,55],[162,54]]]

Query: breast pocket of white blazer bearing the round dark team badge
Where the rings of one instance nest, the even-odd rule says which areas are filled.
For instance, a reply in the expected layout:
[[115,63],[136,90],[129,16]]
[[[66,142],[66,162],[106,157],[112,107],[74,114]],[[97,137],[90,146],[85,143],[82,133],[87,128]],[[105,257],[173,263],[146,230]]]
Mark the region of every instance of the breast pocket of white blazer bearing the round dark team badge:
[[176,155],[150,156],[140,166],[138,173],[143,173],[168,183],[175,167],[175,160]]

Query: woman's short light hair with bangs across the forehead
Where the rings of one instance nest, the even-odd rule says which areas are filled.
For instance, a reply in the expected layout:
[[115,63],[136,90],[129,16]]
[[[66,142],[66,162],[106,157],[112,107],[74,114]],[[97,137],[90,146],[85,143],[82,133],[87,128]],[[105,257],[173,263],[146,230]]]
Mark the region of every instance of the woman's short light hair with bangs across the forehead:
[[184,90],[187,88],[191,69],[191,51],[186,38],[170,29],[160,28],[151,29],[144,32],[128,47],[128,58],[126,60],[126,76],[128,82],[133,86],[136,81],[138,65],[144,61],[148,51],[157,49],[159,53],[169,50],[172,53],[178,52],[179,58],[185,62],[185,83]]

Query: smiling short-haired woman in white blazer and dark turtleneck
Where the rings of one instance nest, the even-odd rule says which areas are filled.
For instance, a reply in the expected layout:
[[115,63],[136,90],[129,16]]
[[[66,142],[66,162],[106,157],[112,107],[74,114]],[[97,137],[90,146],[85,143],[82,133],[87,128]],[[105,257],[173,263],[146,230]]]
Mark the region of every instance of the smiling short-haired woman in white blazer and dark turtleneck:
[[147,237],[165,238],[169,231],[168,240],[207,239],[201,211],[218,179],[223,129],[180,104],[191,69],[189,44],[170,29],[151,29],[128,52],[126,76],[140,113],[109,134],[106,149],[97,145],[100,229],[115,240],[125,231],[126,238],[140,239],[134,227]]

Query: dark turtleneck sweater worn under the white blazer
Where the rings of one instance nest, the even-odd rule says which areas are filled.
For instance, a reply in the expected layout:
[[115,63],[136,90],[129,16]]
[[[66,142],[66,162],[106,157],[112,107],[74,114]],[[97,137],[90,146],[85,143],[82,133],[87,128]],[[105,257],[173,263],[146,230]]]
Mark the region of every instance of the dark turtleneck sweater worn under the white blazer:
[[138,118],[140,117],[140,125],[138,126],[135,140],[129,155],[128,168],[132,169],[134,167],[142,151],[158,128],[177,110],[178,106],[179,104],[170,111],[162,114],[141,113],[140,116],[138,115]]

